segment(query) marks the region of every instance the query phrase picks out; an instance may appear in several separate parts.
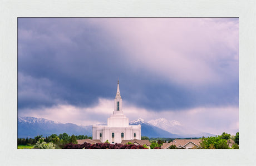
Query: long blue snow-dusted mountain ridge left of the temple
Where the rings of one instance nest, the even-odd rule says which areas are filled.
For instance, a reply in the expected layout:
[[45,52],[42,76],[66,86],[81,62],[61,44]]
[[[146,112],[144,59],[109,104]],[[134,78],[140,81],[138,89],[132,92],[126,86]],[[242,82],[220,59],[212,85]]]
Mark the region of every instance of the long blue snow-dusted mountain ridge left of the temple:
[[92,125],[81,126],[72,123],[60,123],[44,118],[18,117],[18,138],[67,133],[69,135],[92,135]]

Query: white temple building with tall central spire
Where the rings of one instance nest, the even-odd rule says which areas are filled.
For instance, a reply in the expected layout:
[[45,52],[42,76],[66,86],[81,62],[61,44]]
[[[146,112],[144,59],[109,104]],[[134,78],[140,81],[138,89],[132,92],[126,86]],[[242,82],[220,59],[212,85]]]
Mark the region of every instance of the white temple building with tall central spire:
[[101,142],[108,140],[110,143],[121,143],[122,140],[141,139],[141,125],[129,125],[129,118],[122,111],[122,98],[117,81],[117,92],[115,98],[115,110],[107,125],[93,125],[92,139],[100,139]]

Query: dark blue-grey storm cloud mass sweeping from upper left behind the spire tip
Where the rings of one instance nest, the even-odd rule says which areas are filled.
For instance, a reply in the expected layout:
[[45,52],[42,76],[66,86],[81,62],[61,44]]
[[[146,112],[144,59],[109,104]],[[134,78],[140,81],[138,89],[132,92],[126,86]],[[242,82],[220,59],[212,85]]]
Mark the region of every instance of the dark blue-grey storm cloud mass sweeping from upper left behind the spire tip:
[[[122,98],[143,108],[238,105],[238,80],[202,87],[170,83],[128,63],[119,42],[87,19],[19,18],[18,108],[90,106],[115,97],[117,78]],[[225,62],[218,63],[220,72]]]

